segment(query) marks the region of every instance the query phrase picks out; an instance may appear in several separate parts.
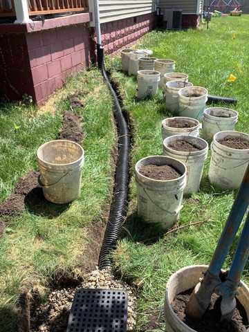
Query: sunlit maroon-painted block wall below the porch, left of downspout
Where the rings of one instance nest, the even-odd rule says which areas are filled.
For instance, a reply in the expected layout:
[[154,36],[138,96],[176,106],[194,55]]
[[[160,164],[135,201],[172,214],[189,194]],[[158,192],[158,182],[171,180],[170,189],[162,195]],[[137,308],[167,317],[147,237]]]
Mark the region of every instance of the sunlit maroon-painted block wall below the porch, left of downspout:
[[68,26],[26,35],[35,100],[41,104],[66,77],[90,64],[90,35],[85,26]]

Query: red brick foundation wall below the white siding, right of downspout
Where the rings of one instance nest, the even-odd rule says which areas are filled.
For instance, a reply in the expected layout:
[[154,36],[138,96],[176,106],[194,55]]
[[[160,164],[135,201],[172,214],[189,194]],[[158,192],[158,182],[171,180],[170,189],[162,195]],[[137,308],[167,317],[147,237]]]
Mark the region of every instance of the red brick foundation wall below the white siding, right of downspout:
[[134,44],[154,28],[155,22],[155,15],[151,13],[102,24],[102,43],[105,53],[111,54],[124,46]]

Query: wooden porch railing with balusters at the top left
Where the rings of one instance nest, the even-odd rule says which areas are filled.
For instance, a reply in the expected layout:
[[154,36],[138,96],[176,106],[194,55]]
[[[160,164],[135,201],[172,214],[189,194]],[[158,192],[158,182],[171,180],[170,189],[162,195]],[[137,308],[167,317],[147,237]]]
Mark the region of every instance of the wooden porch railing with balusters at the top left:
[[[88,10],[88,0],[27,0],[29,15],[47,15],[59,12]],[[13,0],[0,0],[0,17],[15,16]]]

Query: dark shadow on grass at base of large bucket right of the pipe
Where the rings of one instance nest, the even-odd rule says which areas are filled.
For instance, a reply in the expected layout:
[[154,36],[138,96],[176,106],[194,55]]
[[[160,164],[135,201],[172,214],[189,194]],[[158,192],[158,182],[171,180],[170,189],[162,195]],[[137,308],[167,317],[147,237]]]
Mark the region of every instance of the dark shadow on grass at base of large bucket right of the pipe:
[[149,246],[156,243],[164,234],[165,230],[160,225],[145,223],[137,212],[133,212],[124,223],[121,237]]

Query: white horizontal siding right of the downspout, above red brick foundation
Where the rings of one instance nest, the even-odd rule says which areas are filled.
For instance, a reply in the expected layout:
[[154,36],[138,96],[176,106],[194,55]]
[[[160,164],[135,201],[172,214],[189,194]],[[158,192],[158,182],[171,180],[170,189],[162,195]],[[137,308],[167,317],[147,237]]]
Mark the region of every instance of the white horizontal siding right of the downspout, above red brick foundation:
[[155,0],[100,0],[100,23],[154,12],[155,3]]

